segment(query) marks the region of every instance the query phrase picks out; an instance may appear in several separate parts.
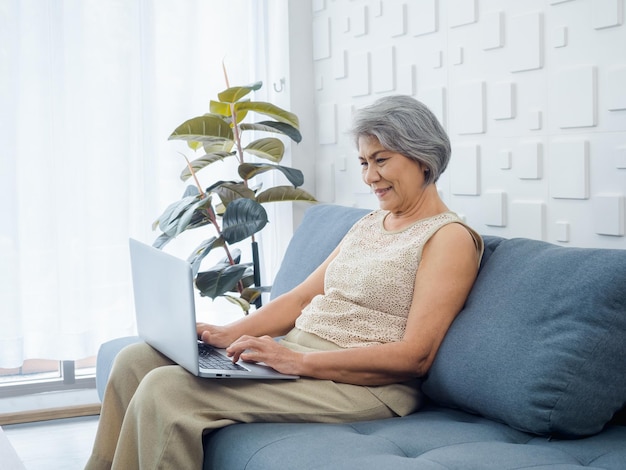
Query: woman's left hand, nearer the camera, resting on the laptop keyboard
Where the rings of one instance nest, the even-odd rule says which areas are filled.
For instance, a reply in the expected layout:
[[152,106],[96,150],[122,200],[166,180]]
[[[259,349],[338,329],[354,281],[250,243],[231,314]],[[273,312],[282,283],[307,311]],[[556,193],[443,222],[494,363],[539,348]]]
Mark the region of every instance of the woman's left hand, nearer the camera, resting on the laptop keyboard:
[[283,374],[301,374],[302,353],[281,346],[271,336],[242,336],[226,352],[235,362],[263,362]]

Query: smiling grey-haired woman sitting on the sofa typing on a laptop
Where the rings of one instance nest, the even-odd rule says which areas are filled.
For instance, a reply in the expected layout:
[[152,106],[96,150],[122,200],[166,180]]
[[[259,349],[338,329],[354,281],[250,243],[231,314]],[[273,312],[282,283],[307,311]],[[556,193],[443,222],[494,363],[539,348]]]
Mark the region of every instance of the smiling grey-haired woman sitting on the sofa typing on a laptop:
[[201,468],[203,434],[229,424],[419,409],[419,378],[463,307],[483,243],[438,195],[450,143],[428,108],[382,98],[357,112],[352,132],[380,209],[292,291],[226,326],[197,326],[233,360],[301,378],[206,380],[150,346],[129,346],[113,368],[87,468]]

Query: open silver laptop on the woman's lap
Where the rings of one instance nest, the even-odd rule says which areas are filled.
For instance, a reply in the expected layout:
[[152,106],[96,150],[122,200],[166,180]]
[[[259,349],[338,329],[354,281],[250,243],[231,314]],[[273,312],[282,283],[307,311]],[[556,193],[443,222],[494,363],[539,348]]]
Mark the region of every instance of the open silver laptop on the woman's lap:
[[[224,349],[199,341],[191,265],[132,238],[129,246],[137,332],[146,343],[198,377],[299,378],[264,364],[233,363]],[[207,361],[218,364],[202,364]]]

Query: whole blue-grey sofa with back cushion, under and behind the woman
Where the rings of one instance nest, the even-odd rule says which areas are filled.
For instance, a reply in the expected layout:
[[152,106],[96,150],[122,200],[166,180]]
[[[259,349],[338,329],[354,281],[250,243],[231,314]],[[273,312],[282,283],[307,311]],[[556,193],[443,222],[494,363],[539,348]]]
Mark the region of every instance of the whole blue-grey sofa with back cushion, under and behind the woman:
[[[308,209],[272,295],[365,213]],[[626,250],[484,239],[479,277],[424,381],[425,408],[340,425],[233,425],[206,436],[204,468],[626,469]],[[137,340],[102,345],[100,396],[114,356]]]

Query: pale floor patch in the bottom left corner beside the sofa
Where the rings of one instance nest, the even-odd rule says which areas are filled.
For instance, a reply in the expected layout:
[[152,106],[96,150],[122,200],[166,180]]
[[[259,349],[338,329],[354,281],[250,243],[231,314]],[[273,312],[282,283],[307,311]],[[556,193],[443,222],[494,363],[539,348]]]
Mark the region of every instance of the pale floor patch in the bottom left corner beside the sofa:
[[98,416],[84,416],[5,425],[2,430],[27,470],[79,470],[87,463],[97,425]]

